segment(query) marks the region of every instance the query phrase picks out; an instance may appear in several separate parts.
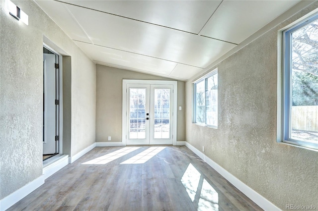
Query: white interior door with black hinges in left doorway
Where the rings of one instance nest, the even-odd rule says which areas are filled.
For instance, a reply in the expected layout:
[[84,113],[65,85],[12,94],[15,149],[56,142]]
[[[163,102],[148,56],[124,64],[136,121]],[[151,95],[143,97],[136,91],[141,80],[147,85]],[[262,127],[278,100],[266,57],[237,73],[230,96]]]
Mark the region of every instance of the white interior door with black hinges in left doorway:
[[56,153],[56,69],[55,54],[43,53],[44,139],[43,155]]

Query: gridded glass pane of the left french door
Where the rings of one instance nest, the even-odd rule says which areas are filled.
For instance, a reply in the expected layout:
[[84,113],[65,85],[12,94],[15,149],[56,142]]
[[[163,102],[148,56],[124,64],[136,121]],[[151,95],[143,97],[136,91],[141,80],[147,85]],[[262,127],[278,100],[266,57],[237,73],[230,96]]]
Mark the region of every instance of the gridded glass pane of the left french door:
[[130,88],[130,124],[129,138],[130,139],[145,139],[146,138],[146,89],[145,88]]

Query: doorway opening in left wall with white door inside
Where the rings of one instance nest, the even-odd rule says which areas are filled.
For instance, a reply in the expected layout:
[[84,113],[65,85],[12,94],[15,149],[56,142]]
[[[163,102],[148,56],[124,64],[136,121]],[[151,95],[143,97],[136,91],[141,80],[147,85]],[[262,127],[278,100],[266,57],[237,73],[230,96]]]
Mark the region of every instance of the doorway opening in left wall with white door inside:
[[62,152],[60,139],[60,59],[43,46],[43,163]]

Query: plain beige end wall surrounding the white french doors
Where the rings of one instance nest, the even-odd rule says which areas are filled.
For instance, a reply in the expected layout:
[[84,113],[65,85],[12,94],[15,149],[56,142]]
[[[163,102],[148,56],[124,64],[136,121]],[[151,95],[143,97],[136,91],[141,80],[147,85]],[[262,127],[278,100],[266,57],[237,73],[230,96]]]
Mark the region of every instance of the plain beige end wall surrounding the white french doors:
[[[96,142],[122,141],[122,81],[123,79],[171,80],[129,70],[96,65]],[[184,108],[184,85],[178,81],[178,106]],[[177,113],[177,141],[185,140],[185,110]]]

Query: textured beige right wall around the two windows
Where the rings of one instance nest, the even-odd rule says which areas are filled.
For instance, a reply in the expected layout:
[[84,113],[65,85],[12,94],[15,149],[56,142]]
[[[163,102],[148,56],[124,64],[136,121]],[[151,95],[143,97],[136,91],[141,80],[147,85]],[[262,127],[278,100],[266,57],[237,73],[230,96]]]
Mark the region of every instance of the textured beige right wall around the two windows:
[[280,209],[318,207],[318,153],[278,144],[277,33],[298,13],[217,64],[218,129],[191,122],[192,82],[186,83],[186,141]]

